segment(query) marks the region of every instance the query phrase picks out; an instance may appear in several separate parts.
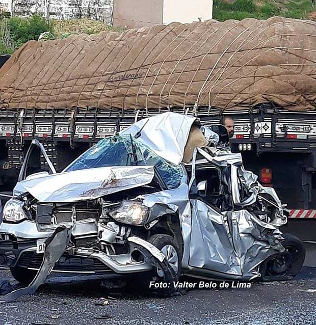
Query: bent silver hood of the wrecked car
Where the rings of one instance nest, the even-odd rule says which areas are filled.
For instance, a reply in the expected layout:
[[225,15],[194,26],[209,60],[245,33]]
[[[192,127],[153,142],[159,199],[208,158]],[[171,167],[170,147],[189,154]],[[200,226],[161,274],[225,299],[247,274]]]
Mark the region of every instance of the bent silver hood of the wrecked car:
[[40,202],[93,200],[149,184],[153,176],[153,166],[83,169],[19,182],[14,195],[29,192]]

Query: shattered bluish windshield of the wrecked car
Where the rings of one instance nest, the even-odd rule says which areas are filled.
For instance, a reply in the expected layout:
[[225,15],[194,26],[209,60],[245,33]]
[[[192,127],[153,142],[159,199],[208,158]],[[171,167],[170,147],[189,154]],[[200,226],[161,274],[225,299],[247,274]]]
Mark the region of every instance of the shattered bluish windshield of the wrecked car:
[[156,155],[149,147],[129,134],[117,134],[100,140],[64,171],[143,165],[155,166],[168,188],[179,186],[183,175],[181,167]]

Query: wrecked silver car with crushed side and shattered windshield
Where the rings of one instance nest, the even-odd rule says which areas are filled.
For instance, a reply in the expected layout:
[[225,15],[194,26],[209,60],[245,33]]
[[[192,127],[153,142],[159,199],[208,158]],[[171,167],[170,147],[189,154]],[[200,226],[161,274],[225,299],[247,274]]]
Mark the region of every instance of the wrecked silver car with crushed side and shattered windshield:
[[274,189],[224,138],[165,113],[99,141],[61,173],[43,151],[51,174],[28,175],[32,148],[43,150],[33,141],[3,209],[0,264],[31,283],[25,292],[50,272],[291,279],[302,243],[280,232],[287,219]]

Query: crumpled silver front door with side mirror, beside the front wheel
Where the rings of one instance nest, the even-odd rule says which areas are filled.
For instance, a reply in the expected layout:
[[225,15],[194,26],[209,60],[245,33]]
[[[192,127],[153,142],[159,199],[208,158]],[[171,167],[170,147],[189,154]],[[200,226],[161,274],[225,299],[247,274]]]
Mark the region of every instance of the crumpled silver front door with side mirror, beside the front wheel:
[[[198,150],[200,153],[202,152],[201,149]],[[198,175],[199,166],[196,156],[197,150],[193,155],[192,177],[189,184],[192,204],[189,265],[214,272],[239,275],[241,269],[236,267],[236,265],[240,265],[239,257],[234,251],[231,229],[227,221],[227,211],[221,211],[219,206],[212,204],[212,200],[209,199],[212,196],[207,197],[207,193],[206,195],[199,193],[204,188],[203,186],[201,188],[203,177],[201,178]],[[205,158],[208,161],[207,154],[205,154]],[[207,165],[205,166],[207,170]],[[220,170],[220,166],[216,166],[215,161],[208,161],[208,166],[209,172],[214,169]],[[220,176],[220,182],[222,182],[222,176]],[[200,181],[198,184],[197,180]],[[207,184],[207,186],[213,185]],[[219,187],[223,190],[221,183]]]

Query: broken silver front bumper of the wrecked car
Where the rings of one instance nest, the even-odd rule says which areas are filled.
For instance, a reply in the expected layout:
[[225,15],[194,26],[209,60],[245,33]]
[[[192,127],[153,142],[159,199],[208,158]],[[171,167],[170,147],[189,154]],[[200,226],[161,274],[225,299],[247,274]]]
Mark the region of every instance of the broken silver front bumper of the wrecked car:
[[[33,253],[33,256],[35,257],[34,260],[37,260],[37,240],[48,238],[53,232],[54,230],[48,229],[41,231],[38,229],[36,223],[31,221],[22,221],[17,224],[2,223],[0,225],[0,267],[19,265],[19,261],[22,260],[23,254],[25,255],[26,253]],[[87,269],[85,269],[85,266],[83,265],[80,269],[78,269],[76,265],[71,267],[71,261],[75,260],[75,258],[82,258],[85,260],[91,259],[93,261],[97,260],[98,265],[102,263],[107,272],[112,271],[116,274],[145,272],[152,268],[152,265],[146,262],[145,256],[141,261],[135,261],[131,256],[131,253],[135,250],[141,252],[142,248],[146,248],[159,260],[162,261],[164,259],[164,255],[159,250],[157,250],[151,243],[141,238],[130,237],[128,238],[128,243],[129,252],[120,255],[107,255],[104,252],[90,248],[78,247],[69,249],[66,253],[67,256],[71,256],[72,259],[68,258],[67,267],[63,267],[63,264],[59,263],[58,267],[53,269],[53,272],[90,274],[100,272],[99,268],[93,269],[93,266],[91,265]],[[24,263],[23,267],[39,269],[40,265],[36,266],[36,264],[34,265],[34,263],[32,263],[28,266]]]

